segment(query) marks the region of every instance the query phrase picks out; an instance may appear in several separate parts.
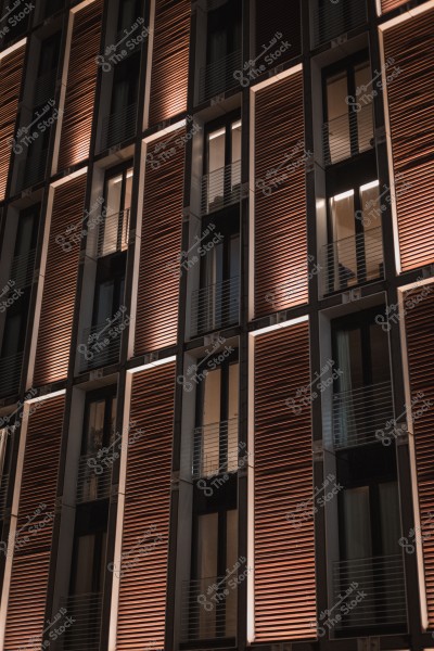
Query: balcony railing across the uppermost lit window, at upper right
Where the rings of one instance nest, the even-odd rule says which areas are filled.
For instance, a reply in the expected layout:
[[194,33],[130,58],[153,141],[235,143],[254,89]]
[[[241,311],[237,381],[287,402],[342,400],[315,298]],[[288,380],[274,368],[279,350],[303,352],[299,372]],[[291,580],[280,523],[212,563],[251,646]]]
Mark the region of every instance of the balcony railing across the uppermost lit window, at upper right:
[[345,113],[322,125],[324,165],[334,165],[374,146],[373,104],[361,103],[360,110]]

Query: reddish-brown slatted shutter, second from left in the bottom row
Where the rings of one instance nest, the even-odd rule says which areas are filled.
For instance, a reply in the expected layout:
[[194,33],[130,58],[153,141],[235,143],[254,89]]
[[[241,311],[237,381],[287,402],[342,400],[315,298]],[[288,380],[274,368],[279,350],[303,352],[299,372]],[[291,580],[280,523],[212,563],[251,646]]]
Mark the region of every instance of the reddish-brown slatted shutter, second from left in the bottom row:
[[143,434],[127,452],[117,651],[164,647],[174,395],[174,362],[133,378],[130,420]]

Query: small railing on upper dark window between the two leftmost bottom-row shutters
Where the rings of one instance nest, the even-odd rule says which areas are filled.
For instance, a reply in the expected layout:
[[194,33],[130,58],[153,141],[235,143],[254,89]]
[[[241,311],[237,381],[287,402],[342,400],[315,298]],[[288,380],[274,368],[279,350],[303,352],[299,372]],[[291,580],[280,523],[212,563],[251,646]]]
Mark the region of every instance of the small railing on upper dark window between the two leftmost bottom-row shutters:
[[103,459],[98,452],[82,455],[78,462],[77,503],[95,501],[110,496],[113,452]]

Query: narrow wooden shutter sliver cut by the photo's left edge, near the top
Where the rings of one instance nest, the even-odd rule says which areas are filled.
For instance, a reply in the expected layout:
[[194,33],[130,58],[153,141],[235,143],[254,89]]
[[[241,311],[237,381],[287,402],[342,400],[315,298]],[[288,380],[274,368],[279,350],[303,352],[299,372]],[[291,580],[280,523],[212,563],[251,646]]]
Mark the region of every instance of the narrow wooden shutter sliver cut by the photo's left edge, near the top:
[[25,44],[0,60],[0,201],[4,199],[23,76]]

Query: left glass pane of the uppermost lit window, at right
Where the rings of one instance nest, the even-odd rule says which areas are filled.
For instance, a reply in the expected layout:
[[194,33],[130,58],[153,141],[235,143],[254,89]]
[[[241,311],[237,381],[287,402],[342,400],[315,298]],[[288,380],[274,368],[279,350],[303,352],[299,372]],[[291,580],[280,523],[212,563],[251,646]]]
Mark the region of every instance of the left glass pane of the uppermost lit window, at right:
[[346,74],[332,77],[327,81],[327,111],[329,129],[329,150],[331,163],[350,156],[348,105]]

